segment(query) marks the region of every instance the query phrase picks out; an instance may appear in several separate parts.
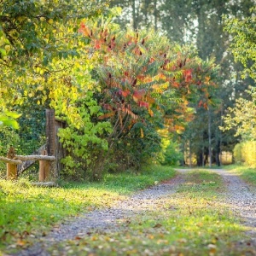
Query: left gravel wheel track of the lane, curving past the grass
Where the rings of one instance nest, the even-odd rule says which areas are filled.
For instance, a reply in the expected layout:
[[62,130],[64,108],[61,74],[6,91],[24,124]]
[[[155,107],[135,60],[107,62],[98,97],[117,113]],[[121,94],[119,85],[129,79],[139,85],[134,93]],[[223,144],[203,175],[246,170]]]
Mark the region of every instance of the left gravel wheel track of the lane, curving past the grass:
[[58,241],[72,240],[77,236],[87,236],[92,231],[110,232],[118,230],[120,222],[154,208],[161,198],[175,193],[177,186],[181,183],[183,183],[183,177],[178,174],[170,181],[144,189],[131,195],[125,201],[118,201],[113,207],[73,218],[73,220],[52,230],[48,236],[42,237],[41,242],[37,245],[29,247],[15,256],[49,256],[50,254],[46,252],[47,247]]

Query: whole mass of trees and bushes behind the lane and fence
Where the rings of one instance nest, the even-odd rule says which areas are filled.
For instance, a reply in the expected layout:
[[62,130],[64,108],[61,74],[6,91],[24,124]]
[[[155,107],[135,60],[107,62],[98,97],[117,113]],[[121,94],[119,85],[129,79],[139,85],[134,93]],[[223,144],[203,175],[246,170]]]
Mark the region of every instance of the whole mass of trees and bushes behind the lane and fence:
[[253,5],[2,1],[1,155],[42,146],[54,108],[67,125],[61,177],[184,164],[186,153],[220,165],[234,148],[255,166]]

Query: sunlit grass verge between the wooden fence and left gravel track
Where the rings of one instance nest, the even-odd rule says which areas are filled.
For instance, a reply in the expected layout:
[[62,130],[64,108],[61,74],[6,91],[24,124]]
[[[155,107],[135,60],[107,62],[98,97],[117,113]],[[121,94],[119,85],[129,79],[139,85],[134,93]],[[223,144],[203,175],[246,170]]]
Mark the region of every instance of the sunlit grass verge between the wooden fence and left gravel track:
[[63,183],[60,188],[0,179],[0,255],[6,248],[26,247],[64,218],[110,207],[125,195],[174,176],[171,167],[152,166],[138,175],[108,174],[101,183]]

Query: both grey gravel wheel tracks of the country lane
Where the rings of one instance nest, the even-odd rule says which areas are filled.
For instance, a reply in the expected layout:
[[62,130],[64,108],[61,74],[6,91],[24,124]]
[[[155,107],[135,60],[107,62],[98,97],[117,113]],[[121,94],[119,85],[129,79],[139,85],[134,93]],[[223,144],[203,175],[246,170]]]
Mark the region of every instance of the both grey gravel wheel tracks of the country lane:
[[[190,171],[178,169],[180,173]],[[212,170],[224,178],[227,185],[226,201],[236,215],[243,218],[244,224],[250,228],[247,235],[252,238],[256,246],[256,190],[249,189],[248,185],[231,172],[224,170]],[[74,218],[66,224],[55,228],[48,236],[42,238],[37,245],[30,247],[16,255],[19,256],[48,256],[46,248],[58,241],[74,239],[76,236],[86,236],[95,231],[115,231],[119,229],[119,223],[132,216],[153,209],[160,199],[176,192],[179,184],[183,183],[181,174],[169,182],[160,183],[149,189],[145,189],[128,200],[119,201],[113,207],[105,210],[97,210],[86,213],[79,218]]]

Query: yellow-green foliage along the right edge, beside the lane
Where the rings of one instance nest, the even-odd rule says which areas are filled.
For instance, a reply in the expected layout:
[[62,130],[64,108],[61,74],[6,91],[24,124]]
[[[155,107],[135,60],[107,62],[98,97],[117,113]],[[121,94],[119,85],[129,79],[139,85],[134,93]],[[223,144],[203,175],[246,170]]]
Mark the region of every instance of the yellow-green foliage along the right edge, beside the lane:
[[[251,9],[252,16],[245,19],[225,17],[225,27],[227,32],[232,35],[232,43],[230,50],[236,61],[241,61],[244,70],[242,77],[250,76],[256,79],[256,33],[255,33],[255,7]],[[235,130],[235,136],[242,138],[234,148],[236,163],[245,163],[248,166],[255,167],[256,157],[256,90],[251,87],[246,90],[249,99],[239,98],[233,108],[229,108],[229,112],[224,117],[223,131]]]

